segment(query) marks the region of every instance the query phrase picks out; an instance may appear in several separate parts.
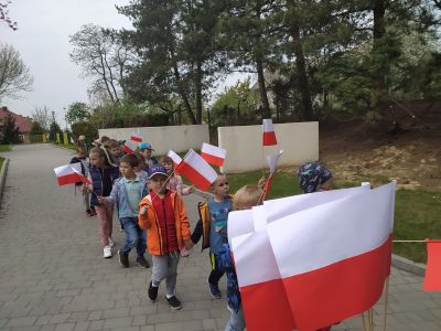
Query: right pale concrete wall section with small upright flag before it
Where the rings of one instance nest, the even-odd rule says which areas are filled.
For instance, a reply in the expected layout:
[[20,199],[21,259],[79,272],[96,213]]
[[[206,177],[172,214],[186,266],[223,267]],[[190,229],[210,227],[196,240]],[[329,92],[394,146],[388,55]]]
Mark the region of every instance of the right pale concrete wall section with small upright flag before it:
[[319,122],[276,124],[277,146],[262,151],[262,126],[219,127],[219,147],[227,150],[223,171],[244,172],[258,170],[268,163],[263,154],[283,149],[280,166],[298,166],[319,159]]

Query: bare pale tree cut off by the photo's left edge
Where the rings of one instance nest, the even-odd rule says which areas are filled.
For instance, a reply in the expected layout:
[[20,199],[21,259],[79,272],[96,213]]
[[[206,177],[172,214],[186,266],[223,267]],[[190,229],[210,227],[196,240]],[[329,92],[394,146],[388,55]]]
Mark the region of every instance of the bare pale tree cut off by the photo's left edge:
[[18,98],[18,93],[32,90],[33,77],[20,53],[8,44],[0,44],[0,100]]

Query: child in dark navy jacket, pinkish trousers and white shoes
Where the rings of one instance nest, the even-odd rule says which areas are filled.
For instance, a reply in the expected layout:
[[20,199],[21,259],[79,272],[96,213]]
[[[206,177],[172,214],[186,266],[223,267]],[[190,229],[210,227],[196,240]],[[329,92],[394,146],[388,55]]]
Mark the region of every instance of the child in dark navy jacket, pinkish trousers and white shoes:
[[98,231],[104,247],[103,256],[111,257],[111,247],[115,246],[111,239],[114,205],[101,205],[98,196],[109,196],[114,181],[119,178],[118,167],[111,166],[109,154],[105,147],[95,147],[89,153],[90,170],[87,186],[92,191],[90,204],[95,207],[98,217]]

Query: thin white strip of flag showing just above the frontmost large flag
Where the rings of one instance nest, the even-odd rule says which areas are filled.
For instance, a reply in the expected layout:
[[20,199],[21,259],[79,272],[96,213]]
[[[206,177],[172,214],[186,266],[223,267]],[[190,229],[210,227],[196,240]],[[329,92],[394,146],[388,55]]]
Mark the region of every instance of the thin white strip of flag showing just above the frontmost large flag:
[[268,200],[263,202],[265,214],[268,220],[267,222],[271,223],[275,220],[284,217],[287,215],[369,190],[370,185],[367,184],[351,189],[332,190],[288,196],[277,200]]

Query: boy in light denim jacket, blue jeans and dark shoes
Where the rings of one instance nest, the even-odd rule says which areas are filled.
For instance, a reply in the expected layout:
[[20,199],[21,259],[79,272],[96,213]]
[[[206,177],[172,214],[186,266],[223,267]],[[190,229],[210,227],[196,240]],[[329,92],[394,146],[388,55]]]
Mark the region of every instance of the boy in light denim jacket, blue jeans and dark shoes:
[[137,247],[137,263],[148,268],[149,261],[144,258],[146,231],[138,225],[139,202],[147,195],[147,183],[137,177],[135,169],[139,166],[136,156],[125,156],[119,163],[121,178],[117,179],[111,193],[107,197],[98,197],[100,204],[117,204],[118,216],[126,231],[126,243],[122,249],[118,250],[119,263],[122,267],[129,268],[129,253]]

